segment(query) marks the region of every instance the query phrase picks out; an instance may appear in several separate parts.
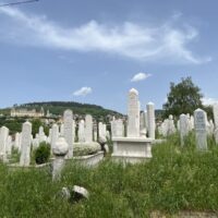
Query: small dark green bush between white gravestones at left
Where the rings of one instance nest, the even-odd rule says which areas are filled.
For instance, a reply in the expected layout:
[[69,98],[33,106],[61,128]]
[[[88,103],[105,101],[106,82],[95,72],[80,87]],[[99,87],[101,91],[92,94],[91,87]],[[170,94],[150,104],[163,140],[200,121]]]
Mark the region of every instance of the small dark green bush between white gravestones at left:
[[41,165],[48,161],[50,156],[50,145],[40,143],[39,147],[35,150],[35,161]]

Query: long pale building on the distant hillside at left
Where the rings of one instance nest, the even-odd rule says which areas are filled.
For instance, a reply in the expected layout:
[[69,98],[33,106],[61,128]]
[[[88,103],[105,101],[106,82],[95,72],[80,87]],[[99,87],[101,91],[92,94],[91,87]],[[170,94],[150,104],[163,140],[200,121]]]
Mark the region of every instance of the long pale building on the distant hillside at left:
[[41,107],[40,111],[36,109],[27,110],[26,108],[21,109],[11,109],[11,117],[31,117],[31,118],[41,118],[45,116],[44,108]]

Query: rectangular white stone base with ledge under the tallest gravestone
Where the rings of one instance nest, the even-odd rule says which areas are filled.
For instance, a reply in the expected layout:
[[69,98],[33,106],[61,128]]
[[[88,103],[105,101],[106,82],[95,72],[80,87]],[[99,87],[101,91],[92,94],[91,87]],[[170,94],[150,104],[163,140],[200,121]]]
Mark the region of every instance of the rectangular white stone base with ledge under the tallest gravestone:
[[112,159],[131,164],[150,159],[153,141],[143,137],[113,137]]

